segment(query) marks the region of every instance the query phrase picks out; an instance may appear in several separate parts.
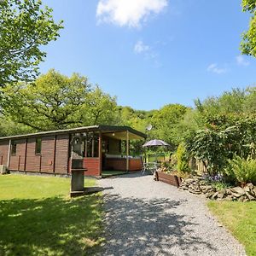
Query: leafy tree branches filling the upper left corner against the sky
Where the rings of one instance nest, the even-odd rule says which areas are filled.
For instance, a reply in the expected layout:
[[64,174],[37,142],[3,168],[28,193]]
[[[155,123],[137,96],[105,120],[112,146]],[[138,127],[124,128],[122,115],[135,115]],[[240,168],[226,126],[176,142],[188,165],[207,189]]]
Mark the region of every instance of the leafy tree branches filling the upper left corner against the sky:
[[0,87],[30,81],[46,53],[41,46],[58,38],[62,21],[55,23],[41,1],[0,1]]

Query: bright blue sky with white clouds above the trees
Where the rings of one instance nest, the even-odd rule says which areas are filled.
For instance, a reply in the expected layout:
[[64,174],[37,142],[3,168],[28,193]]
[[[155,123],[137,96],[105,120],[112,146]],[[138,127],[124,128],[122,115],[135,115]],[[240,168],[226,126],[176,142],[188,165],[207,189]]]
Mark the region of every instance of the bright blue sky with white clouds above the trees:
[[80,73],[121,106],[194,106],[256,84],[256,58],[240,53],[250,15],[239,0],[43,0],[64,20],[44,47],[41,73]]

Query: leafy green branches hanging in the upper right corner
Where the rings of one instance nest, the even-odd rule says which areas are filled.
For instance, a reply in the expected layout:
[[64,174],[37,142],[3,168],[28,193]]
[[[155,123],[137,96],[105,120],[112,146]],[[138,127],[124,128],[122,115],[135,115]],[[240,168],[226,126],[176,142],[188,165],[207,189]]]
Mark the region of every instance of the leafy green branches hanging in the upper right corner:
[[241,53],[256,57],[256,1],[242,0],[242,10],[252,14],[247,32],[242,34]]

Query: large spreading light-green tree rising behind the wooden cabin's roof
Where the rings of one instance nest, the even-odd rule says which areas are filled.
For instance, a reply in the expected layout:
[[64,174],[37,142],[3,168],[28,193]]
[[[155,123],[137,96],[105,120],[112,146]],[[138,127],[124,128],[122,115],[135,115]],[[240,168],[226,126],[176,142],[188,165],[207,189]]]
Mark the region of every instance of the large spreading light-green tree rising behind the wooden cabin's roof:
[[106,124],[115,113],[115,98],[77,73],[68,78],[50,70],[34,83],[8,85],[3,92],[4,115],[34,131]]

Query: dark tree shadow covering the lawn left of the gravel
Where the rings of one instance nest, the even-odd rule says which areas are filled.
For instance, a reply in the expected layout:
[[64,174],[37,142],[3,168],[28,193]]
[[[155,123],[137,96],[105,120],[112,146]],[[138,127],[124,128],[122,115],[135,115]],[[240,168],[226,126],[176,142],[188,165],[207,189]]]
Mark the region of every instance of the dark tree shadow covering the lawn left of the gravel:
[[84,255],[101,243],[101,199],[0,201],[0,255]]

